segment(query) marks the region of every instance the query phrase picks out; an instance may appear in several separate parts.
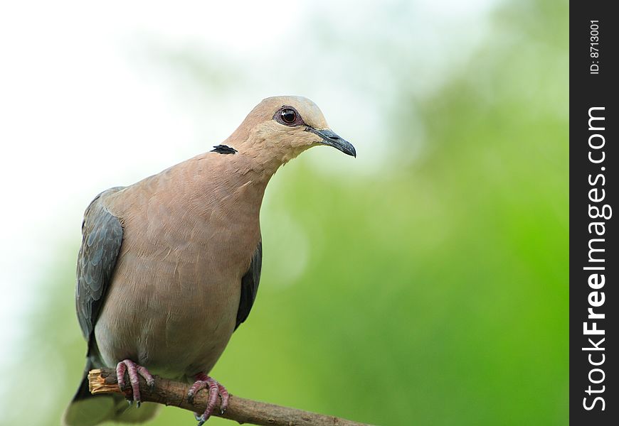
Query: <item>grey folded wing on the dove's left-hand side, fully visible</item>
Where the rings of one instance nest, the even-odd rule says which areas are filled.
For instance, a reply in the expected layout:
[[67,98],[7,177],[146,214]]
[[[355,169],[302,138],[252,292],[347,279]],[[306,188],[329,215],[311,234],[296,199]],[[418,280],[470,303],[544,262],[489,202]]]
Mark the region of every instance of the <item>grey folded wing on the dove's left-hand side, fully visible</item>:
[[121,189],[115,187],[97,195],[84,214],[82,246],[78,254],[75,307],[82,333],[87,340],[95,328],[105,293],[110,287],[122,243],[120,220],[105,208],[101,197]]

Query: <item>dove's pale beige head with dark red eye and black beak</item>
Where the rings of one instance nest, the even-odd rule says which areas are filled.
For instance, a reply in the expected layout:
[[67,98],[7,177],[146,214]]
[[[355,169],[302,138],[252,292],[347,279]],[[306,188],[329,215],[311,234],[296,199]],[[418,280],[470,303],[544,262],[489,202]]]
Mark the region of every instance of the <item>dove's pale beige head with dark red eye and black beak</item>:
[[354,146],[329,129],[320,109],[305,97],[264,99],[239,129],[248,132],[237,137],[247,141],[250,151],[260,153],[261,157],[268,156],[280,164],[318,145],[332,146],[356,157]]

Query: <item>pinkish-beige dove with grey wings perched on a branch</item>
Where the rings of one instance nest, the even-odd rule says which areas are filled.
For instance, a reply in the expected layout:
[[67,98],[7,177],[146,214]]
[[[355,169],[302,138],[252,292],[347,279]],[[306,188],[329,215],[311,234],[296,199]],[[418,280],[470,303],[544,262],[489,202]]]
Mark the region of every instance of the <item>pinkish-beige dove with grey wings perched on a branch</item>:
[[[356,157],[314,102],[269,97],[206,153],[92,200],[75,288],[88,352],[65,425],[154,417],[159,406],[141,404],[139,376],[147,386],[153,376],[193,383],[189,401],[208,392],[206,410],[194,413],[199,426],[218,399],[226,410],[229,393],[208,373],[258,292],[265,188],[280,166],[313,146]],[[88,371],[102,367],[115,368],[121,388],[131,386],[128,405],[122,395],[90,394]]]

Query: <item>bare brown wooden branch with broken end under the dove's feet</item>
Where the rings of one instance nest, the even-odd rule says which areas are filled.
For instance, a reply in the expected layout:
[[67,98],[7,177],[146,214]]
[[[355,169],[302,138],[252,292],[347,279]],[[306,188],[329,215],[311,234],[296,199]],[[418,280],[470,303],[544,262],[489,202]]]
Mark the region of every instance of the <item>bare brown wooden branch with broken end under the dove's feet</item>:
[[[166,378],[154,376],[155,386],[151,390],[142,377],[139,378],[139,389],[142,395],[142,402],[159,403],[164,405],[174,405],[184,408],[191,412],[201,413],[206,410],[208,392],[201,391],[196,393],[194,404],[187,400],[189,385],[170,381]],[[129,381],[127,381],[128,383]],[[102,368],[90,370],[88,373],[88,386],[92,395],[99,393],[122,393],[125,398],[132,397],[131,386],[121,390],[116,380],[116,371],[112,368]],[[219,404],[220,401],[218,401]],[[219,406],[214,410],[213,415],[239,423],[250,423],[253,425],[264,426],[363,426],[364,423],[352,422],[339,417],[309,413],[309,411],[297,410],[295,408],[282,407],[268,403],[239,398],[230,395],[228,410],[223,415],[220,414]],[[208,425],[208,422],[206,423]]]

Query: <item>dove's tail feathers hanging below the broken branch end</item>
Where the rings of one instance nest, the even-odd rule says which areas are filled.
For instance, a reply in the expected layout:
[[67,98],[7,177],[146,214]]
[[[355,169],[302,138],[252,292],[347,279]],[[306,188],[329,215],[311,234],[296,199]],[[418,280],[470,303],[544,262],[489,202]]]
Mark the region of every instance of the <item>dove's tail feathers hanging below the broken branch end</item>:
[[157,414],[159,408],[157,404],[142,403],[140,408],[137,408],[135,404],[129,407],[122,395],[92,395],[88,390],[88,371],[91,367],[92,363],[89,360],[82,383],[65,410],[63,425],[95,426],[107,421],[141,423]]

